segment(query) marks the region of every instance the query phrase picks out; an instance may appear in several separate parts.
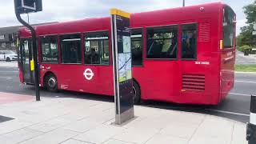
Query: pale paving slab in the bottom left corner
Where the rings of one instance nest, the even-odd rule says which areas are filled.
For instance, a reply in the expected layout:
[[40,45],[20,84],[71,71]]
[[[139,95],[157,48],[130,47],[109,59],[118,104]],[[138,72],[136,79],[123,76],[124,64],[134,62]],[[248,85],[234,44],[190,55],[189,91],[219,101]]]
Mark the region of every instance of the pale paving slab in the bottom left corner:
[[28,140],[30,138],[37,137],[40,134],[43,133],[37,130],[24,128],[20,130],[15,130],[14,132],[10,132],[8,134],[0,135],[0,142],[1,144],[15,144]]

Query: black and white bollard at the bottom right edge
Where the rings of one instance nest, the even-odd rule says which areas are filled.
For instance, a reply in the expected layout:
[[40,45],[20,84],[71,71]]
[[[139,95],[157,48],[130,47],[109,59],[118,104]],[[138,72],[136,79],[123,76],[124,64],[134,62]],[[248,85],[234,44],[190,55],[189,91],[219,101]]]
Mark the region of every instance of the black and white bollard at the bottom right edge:
[[256,95],[250,98],[250,122],[246,126],[246,140],[248,144],[256,143]]

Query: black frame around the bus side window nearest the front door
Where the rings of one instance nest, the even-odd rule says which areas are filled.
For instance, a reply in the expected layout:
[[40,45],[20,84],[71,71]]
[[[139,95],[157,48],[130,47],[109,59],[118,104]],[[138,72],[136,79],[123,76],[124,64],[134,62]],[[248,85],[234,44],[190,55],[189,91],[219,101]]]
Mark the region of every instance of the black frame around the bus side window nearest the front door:
[[[57,39],[57,50],[58,50],[58,62],[42,62],[42,40],[41,38],[42,37],[51,37],[51,36],[55,36],[56,39]],[[60,64],[60,61],[61,61],[61,55],[60,55],[60,43],[58,43],[59,41],[59,35],[58,34],[47,34],[47,35],[39,35],[38,36],[38,46],[40,46],[39,50],[40,50],[40,61],[42,64]]]

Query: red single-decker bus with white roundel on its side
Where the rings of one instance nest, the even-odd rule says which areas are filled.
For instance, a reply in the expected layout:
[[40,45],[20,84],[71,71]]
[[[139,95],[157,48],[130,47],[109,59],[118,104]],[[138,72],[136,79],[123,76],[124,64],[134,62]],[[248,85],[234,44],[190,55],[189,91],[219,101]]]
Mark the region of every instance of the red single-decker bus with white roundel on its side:
[[[40,86],[114,95],[110,17],[34,26]],[[134,102],[215,105],[234,86],[235,14],[222,2],[131,14]],[[20,82],[33,84],[19,30]]]

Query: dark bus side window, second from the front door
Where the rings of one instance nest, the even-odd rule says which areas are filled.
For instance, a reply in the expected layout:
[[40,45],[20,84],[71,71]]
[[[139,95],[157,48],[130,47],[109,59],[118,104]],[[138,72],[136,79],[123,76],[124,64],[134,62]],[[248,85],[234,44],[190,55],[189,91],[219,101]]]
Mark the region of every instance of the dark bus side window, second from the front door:
[[62,63],[82,63],[81,35],[66,34],[60,36]]

